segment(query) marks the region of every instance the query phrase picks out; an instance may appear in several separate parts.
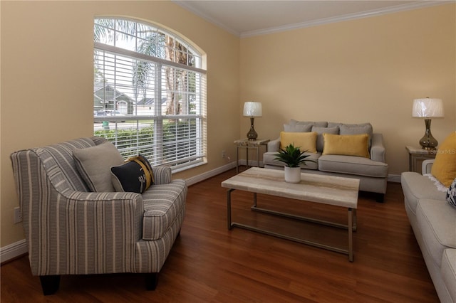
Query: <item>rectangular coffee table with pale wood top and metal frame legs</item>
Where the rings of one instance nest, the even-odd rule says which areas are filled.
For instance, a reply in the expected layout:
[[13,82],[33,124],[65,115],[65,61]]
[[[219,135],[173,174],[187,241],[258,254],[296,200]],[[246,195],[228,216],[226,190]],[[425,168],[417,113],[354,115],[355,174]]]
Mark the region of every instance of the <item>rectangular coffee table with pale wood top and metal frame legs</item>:
[[[341,178],[336,176],[324,176],[319,174],[301,174],[301,183],[292,184],[284,181],[284,171],[276,169],[261,169],[252,167],[241,174],[237,174],[222,182],[222,187],[229,188],[227,191],[227,216],[228,229],[233,227],[245,228],[266,235],[274,235],[279,238],[293,240],[299,243],[316,246],[348,255],[348,260],[353,262],[353,231],[356,230],[356,208],[358,207],[358,179]],[[337,248],[310,240],[295,238],[290,235],[274,233],[263,228],[232,222],[231,216],[231,193],[234,190],[249,191],[254,193],[253,211],[261,211],[276,216],[284,216],[296,220],[305,220],[313,223],[343,228],[348,230],[348,250]],[[284,198],[293,198],[300,201],[323,203],[332,206],[348,208],[348,224],[328,222],[314,218],[295,216],[290,213],[281,213],[257,207],[257,193]]]

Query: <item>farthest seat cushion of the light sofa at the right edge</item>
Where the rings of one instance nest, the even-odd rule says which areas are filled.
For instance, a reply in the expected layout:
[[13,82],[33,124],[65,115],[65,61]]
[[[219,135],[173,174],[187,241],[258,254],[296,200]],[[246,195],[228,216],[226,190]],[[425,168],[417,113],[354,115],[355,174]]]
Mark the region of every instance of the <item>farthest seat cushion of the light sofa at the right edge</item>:
[[437,190],[434,182],[427,176],[415,173],[413,171],[405,171],[400,175],[400,183],[403,188],[405,201],[408,201],[408,206],[416,215],[416,206],[420,199],[435,199],[444,200],[445,193]]

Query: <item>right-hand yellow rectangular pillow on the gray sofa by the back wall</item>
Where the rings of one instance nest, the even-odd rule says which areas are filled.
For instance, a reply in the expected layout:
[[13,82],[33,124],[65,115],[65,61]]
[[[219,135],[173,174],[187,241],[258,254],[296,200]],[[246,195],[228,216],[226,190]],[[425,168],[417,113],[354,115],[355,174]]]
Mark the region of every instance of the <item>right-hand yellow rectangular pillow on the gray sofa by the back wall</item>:
[[368,134],[323,134],[323,154],[369,158]]

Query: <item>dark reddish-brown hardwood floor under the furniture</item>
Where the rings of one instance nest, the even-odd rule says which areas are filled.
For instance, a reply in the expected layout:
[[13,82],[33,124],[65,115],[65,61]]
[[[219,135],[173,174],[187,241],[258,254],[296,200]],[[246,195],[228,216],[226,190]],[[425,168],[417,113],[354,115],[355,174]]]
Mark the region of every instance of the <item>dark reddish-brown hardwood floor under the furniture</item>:
[[[44,297],[26,256],[1,266],[1,302],[438,302],[408,223],[400,184],[385,203],[360,193],[354,262],[331,252],[249,230],[227,229],[227,191],[235,170],[190,186],[187,213],[155,291],[135,274],[62,276]],[[232,194],[234,220],[346,243],[346,230],[249,211],[252,193]],[[346,223],[346,210],[258,195],[259,204]]]

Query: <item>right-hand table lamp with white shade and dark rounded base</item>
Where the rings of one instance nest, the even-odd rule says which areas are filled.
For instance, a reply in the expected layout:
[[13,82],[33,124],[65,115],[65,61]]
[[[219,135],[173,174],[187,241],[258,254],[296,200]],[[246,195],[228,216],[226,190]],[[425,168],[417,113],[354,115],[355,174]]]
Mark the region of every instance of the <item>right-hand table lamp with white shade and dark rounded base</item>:
[[423,149],[432,150],[437,147],[437,140],[432,137],[430,132],[430,118],[443,117],[443,102],[441,99],[425,97],[413,100],[412,117],[425,118],[426,132],[420,139]]

